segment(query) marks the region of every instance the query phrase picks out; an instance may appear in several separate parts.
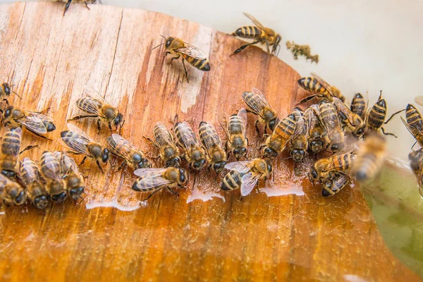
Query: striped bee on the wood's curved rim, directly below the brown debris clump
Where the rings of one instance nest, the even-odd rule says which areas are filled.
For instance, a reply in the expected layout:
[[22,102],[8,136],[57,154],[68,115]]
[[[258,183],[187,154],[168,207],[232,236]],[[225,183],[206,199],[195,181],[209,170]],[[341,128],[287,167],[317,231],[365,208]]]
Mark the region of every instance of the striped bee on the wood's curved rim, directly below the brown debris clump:
[[300,78],[298,84],[305,90],[314,93],[302,99],[298,104],[305,103],[314,97],[326,99],[328,101],[332,101],[332,97],[337,97],[342,102],[345,102],[345,97],[343,97],[341,91],[335,86],[329,85],[328,82],[324,81],[323,78],[320,78],[316,73],[312,73],[311,77]]

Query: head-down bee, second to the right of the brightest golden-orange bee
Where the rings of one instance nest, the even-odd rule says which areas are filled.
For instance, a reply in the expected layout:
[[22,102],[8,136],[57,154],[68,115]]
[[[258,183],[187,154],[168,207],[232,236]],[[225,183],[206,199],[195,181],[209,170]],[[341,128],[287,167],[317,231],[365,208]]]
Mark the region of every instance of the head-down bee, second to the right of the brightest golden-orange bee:
[[329,138],[326,130],[319,121],[319,105],[312,104],[304,113],[308,129],[308,147],[314,154],[317,154],[329,146]]

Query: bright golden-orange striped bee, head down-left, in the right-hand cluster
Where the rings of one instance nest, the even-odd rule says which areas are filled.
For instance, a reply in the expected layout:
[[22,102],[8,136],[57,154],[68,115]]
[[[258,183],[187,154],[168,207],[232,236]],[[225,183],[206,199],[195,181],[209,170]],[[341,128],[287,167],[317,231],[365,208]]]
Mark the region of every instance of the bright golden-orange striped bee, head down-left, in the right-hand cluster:
[[295,130],[295,115],[290,114],[278,122],[274,132],[266,138],[263,157],[274,159],[286,148]]

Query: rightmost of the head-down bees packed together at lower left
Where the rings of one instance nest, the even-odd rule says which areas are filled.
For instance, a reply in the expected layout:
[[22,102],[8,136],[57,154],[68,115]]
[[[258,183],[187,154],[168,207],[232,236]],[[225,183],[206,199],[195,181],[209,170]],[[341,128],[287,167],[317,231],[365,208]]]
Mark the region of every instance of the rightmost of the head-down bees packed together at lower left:
[[68,195],[74,201],[79,200],[85,192],[85,180],[75,164],[75,160],[66,152],[56,151],[53,154],[59,160],[61,178],[66,181]]

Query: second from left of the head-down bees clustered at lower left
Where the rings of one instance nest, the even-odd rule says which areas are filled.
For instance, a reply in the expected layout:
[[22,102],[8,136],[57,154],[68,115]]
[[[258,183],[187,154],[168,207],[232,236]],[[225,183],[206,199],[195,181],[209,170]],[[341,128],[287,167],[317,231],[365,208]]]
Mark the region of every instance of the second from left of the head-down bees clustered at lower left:
[[19,179],[27,189],[27,197],[37,209],[45,209],[50,202],[49,194],[44,186],[39,166],[30,158],[23,159],[19,165]]

